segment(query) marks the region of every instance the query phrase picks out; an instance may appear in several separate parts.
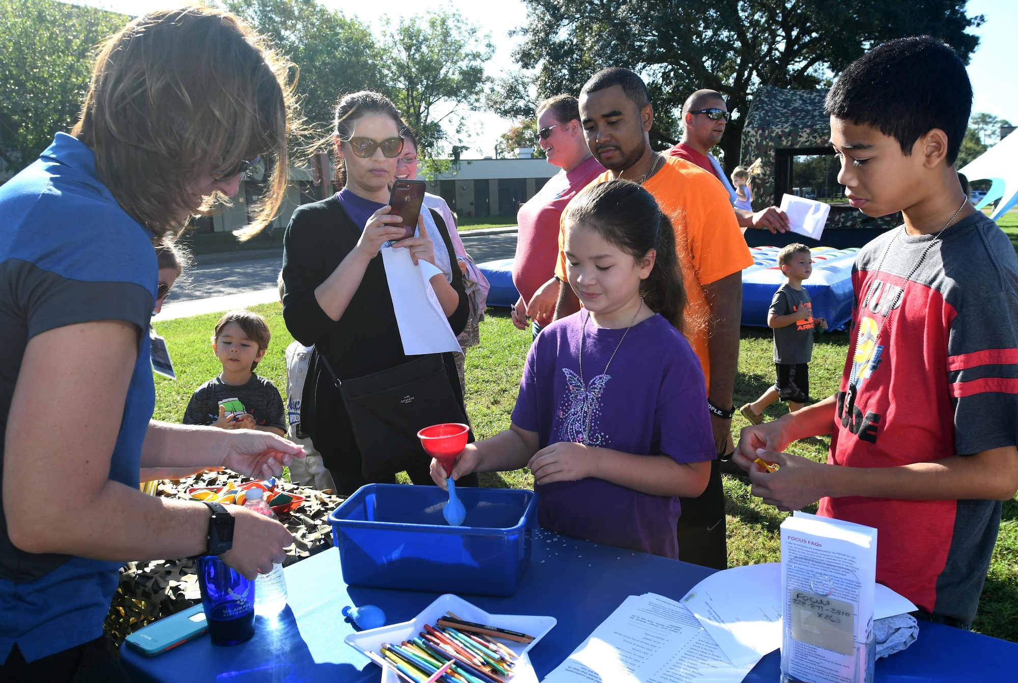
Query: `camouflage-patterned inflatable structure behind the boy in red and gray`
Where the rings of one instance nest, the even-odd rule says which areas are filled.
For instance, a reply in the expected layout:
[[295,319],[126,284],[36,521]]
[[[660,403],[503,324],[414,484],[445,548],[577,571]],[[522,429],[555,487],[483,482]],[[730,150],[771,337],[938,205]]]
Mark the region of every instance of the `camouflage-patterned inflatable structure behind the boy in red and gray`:
[[[775,86],[756,92],[742,128],[740,153],[742,166],[762,160],[762,172],[753,177],[754,209],[781,204],[781,197],[775,196],[777,150],[831,146],[831,120],[824,113],[827,94],[826,90],[790,91]],[[893,227],[900,222],[897,214],[874,220],[846,206],[832,207],[827,227]]]

